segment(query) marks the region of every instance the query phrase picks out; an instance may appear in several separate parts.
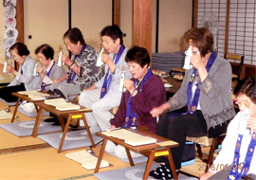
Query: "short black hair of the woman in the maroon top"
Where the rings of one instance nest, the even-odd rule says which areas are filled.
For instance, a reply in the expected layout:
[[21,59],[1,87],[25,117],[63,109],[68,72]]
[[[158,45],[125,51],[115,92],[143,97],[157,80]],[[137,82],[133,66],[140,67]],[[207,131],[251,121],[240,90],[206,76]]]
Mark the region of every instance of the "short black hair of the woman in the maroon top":
[[144,67],[145,64],[149,66],[151,59],[149,56],[149,52],[146,48],[135,45],[128,50],[125,56],[125,62],[138,63],[141,67]]

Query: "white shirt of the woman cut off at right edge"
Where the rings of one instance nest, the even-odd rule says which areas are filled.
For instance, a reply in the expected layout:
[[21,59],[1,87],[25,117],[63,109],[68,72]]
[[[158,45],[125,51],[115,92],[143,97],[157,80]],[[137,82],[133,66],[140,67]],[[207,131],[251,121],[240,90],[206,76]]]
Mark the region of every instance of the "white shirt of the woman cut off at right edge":
[[[218,166],[217,170],[213,170],[210,168],[210,171],[217,172],[223,170],[223,167],[228,164],[231,165],[233,163],[235,145],[237,142],[238,132],[244,134],[241,149],[240,149],[240,158],[239,163],[244,162],[247,155],[247,147],[251,140],[251,135],[249,131],[247,131],[247,125],[245,125],[247,121],[241,118],[241,112],[239,112],[229,123],[227,135],[222,143],[222,149],[216,159],[213,162],[214,168]],[[241,129],[243,127],[243,130]],[[254,151],[250,167],[248,173],[256,174],[256,153]]]

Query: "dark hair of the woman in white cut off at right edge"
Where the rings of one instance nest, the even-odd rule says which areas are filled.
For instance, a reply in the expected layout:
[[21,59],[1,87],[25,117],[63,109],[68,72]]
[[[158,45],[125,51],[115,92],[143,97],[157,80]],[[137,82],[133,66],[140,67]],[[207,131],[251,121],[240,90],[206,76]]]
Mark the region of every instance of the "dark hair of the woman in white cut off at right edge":
[[256,104],[256,79],[255,76],[248,76],[239,81],[234,88],[233,94],[237,97],[240,93],[245,94],[253,103]]

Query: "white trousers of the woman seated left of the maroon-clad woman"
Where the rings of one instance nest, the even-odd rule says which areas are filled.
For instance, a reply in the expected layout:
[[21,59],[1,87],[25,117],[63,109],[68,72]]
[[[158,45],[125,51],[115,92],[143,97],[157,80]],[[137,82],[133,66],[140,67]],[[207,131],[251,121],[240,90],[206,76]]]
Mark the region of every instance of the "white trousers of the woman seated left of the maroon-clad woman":
[[105,131],[110,128],[109,120],[113,117],[110,110],[119,106],[120,103],[120,100],[112,99],[108,96],[100,99],[100,96],[101,89],[97,88],[83,91],[79,99],[80,105],[93,110],[92,113],[84,113],[91,133]]

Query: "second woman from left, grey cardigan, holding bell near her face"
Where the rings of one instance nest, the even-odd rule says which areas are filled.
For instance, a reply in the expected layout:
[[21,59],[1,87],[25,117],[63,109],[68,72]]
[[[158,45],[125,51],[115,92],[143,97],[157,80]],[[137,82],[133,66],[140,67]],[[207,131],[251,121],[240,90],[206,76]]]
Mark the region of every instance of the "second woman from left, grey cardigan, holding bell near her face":
[[58,66],[53,60],[54,50],[50,45],[40,45],[35,49],[39,62],[42,66],[38,66],[36,71],[43,78],[41,88],[43,90],[48,89],[48,84],[53,83],[54,80],[58,80],[65,75],[63,66]]

